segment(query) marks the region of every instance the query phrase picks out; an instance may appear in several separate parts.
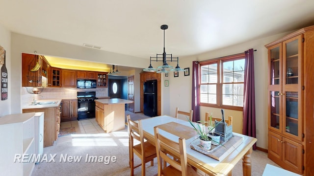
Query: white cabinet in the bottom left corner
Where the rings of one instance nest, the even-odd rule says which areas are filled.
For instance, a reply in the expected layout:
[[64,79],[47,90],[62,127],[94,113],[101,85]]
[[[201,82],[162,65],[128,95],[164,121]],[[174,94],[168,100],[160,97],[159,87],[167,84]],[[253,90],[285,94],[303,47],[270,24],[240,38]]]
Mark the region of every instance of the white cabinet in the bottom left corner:
[[0,175],[31,175],[35,163],[23,160],[23,155],[31,156],[35,152],[34,115],[31,112],[0,117]]

